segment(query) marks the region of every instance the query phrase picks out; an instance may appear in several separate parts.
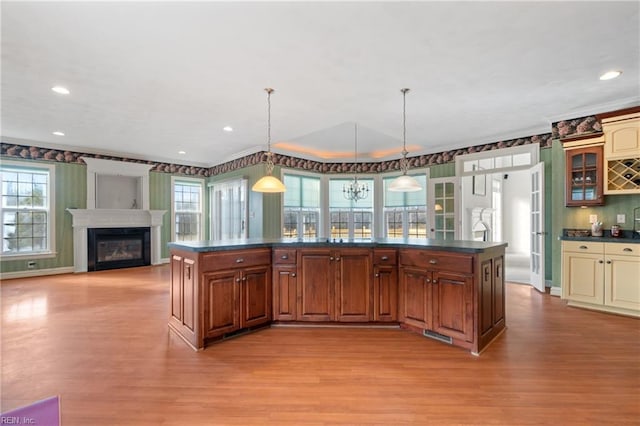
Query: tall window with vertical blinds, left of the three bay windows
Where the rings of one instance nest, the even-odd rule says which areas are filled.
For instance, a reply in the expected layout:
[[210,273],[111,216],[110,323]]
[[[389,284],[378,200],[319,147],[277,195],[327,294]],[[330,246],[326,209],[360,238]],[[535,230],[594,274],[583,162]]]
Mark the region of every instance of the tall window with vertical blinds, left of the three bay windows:
[[216,182],[211,186],[211,239],[239,240],[247,238],[246,179]]

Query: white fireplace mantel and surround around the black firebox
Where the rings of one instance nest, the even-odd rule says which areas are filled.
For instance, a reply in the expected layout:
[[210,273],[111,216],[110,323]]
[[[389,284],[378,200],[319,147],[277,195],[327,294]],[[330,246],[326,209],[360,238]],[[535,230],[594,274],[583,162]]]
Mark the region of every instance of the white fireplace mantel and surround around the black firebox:
[[74,272],[87,272],[88,228],[151,228],[151,264],[161,263],[162,217],[166,210],[67,209],[73,216]]

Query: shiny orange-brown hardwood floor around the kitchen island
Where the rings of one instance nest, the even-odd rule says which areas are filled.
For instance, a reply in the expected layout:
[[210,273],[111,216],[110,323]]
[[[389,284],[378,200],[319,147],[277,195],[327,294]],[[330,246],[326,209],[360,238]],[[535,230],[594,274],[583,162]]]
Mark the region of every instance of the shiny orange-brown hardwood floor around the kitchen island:
[[167,266],[2,282],[2,411],[72,425],[640,424],[640,321],[507,285],[479,357],[402,330],[270,328],[194,352]]

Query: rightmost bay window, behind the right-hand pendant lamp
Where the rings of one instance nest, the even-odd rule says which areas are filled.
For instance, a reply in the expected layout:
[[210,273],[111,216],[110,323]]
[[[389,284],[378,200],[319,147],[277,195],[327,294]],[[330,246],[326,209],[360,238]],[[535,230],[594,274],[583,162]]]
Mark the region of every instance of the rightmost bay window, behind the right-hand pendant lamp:
[[427,237],[427,177],[413,176],[422,186],[416,192],[392,192],[387,188],[395,177],[383,179],[384,225],[388,238]]

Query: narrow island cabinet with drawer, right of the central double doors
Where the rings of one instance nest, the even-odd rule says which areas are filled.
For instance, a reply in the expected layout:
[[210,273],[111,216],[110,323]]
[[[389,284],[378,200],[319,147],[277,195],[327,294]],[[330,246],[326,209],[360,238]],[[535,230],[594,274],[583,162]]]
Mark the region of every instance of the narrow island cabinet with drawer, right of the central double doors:
[[398,267],[396,250],[373,251],[373,321],[398,320]]

